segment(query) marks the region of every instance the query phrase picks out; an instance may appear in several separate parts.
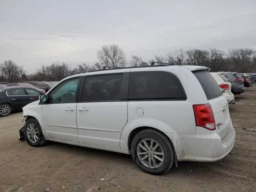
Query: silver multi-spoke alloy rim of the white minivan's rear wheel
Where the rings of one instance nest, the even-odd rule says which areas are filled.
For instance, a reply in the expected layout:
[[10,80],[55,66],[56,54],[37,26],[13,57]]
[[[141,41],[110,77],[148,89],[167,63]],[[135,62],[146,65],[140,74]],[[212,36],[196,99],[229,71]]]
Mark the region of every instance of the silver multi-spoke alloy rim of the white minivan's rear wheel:
[[137,146],[137,155],[140,162],[148,168],[158,168],[164,162],[164,151],[153,139],[142,139]]

